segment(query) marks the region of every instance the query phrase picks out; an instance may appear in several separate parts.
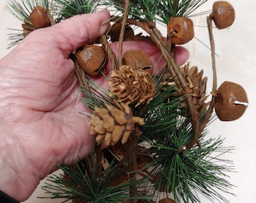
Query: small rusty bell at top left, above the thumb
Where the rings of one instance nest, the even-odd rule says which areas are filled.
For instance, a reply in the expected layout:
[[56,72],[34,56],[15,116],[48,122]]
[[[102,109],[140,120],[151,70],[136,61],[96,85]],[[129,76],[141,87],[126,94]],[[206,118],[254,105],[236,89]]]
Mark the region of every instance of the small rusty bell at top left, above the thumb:
[[50,26],[50,20],[47,17],[48,10],[41,6],[36,6],[29,16],[30,23],[36,28],[44,28]]

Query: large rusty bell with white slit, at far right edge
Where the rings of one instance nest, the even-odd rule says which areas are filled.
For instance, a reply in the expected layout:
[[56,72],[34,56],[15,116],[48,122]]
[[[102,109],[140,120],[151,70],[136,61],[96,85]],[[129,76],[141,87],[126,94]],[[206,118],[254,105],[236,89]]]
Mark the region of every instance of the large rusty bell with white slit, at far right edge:
[[245,89],[237,83],[221,84],[215,97],[215,112],[220,120],[237,120],[244,114],[248,105]]

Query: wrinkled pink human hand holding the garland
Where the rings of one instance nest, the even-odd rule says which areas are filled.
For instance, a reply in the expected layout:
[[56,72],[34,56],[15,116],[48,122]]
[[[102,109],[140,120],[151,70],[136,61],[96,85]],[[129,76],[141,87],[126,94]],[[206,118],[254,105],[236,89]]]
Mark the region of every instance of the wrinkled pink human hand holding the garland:
[[[69,55],[102,35],[109,17],[102,11],[38,29],[0,61],[0,190],[18,201],[29,198],[58,163],[72,164],[93,150]],[[160,56],[146,42],[125,42],[127,49],[146,50],[152,60]],[[182,63],[187,52],[180,51]],[[102,78],[96,82],[106,86]]]

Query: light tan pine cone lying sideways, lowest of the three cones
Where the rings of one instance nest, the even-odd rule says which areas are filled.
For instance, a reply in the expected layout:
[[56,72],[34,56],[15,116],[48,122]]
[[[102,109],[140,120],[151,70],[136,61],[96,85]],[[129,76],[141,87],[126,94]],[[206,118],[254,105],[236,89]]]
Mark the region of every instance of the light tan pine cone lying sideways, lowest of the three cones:
[[128,105],[123,104],[123,109],[120,109],[105,103],[105,107],[95,108],[89,124],[90,134],[96,136],[96,143],[105,141],[109,146],[118,141],[125,144],[136,130],[136,124],[144,125],[145,122],[143,118],[133,117]]

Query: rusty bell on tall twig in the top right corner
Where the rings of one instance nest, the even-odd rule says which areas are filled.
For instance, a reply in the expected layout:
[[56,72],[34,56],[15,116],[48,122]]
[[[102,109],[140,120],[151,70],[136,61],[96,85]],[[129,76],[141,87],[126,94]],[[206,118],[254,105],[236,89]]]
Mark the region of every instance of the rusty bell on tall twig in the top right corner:
[[212,6],[211,17],[218,29],[225,29],[235,21],[235,11],[229,2],[218,1]]

